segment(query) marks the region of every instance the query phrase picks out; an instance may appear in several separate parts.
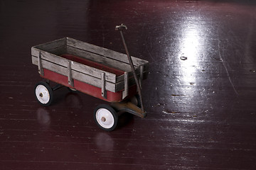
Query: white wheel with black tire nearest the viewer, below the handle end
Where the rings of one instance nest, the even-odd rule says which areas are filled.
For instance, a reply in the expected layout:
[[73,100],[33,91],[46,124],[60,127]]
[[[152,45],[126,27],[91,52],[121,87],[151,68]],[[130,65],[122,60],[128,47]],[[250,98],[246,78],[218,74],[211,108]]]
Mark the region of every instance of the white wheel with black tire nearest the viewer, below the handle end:
[[97,125],[106,131],[112,131],[117,127],[118,115],[109,105],[99,105],[95,108],[94,119]]

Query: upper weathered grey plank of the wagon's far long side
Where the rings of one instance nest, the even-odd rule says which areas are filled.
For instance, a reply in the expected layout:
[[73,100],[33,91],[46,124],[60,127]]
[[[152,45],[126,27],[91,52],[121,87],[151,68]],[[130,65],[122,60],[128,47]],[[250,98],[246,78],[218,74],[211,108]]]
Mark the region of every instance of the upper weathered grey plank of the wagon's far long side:
[[[95,54],[102,55],[102,56],[108,57],[110,59],[129,64],[127,55],[125,55],[121,52],[115,52],[113,50],[109,50],[104,47],[92,45],[87,42],[82,42],[80,40],[75,40],[73,38],[67,38],[67,45],[75,47],[75,48],[79,48],[82,50],[87,50],[89,52],[93,52]],[[142,60],[137,57],[132,57],[132,62],[134,63],[134,66],[136,66],[136,67],[138,67],[139,65],[148,63],[146,60]]]

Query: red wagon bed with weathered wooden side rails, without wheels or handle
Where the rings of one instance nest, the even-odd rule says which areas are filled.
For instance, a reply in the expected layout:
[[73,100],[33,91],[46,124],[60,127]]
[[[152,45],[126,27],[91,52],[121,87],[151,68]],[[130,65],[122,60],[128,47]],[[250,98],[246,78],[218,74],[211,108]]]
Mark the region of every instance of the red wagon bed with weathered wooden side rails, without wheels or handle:
[[[32,63],[41,77],[109,102],[137,94],[127,55],[73,38],[61,38],[31,48]],[[132,57],[139,81],[149,62]]]

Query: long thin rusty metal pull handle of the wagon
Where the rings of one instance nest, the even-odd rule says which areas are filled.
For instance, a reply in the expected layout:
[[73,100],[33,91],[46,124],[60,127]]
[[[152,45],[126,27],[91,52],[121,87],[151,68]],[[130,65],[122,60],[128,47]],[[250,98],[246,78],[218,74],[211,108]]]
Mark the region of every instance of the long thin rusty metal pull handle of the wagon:
[[125,49],[125,52],[127,53],[129,64],[131,66],[132,73],[134,75],[134,79],[135,79],[135,82],[136,82],[136,85],[137,85],[137,89],[138,89],[138,93],[139,93],[139,100],[140,100],[141,105],[142,105],[142,111],[144,112],[144,106],[143,106],[143,103],[142,103],[142,89],[141,89],[141,86],[139,85],[139,80],[138,80],[138,77],[137,77],[135,69],[134,69],[134,64],[132,62],[132,57],[129,55],[127,44],[124,40],[124,32],[123,32],[124,29],[127,30],[127,26],[125,26],[124,24],[121,24],[121,26],[116,26],[116,28],[115,28],[115,30],[119,30],[120,33],[121,33],[122,42],[124,44],[124,49]]

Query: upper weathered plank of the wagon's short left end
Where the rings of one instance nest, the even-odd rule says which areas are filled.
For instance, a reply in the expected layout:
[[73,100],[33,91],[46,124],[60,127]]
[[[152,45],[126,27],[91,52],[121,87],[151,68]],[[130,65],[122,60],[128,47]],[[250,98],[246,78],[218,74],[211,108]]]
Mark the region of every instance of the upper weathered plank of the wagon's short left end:
[[63,45],[67,45],[67,38],[60,38],[58,40],[53,40],[51,42],[46,42],[41,45],[36,45],[33,47],[38,48],[39,50],[48,52],[50,50],[53,50],[53,49],[58,48]]

